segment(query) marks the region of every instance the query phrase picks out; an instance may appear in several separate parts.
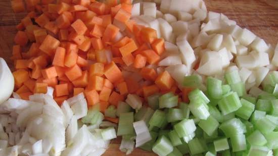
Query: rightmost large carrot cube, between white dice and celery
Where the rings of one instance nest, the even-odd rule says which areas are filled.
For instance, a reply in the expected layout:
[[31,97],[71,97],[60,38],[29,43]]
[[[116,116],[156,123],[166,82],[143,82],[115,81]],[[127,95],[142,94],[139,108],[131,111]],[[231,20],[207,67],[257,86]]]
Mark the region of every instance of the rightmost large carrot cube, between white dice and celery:
[[160,73],[155,80],[155,84],[157,84],[157,86],[161,90],[169,90],[174,83],[175,83],[174,79],[167,71]]

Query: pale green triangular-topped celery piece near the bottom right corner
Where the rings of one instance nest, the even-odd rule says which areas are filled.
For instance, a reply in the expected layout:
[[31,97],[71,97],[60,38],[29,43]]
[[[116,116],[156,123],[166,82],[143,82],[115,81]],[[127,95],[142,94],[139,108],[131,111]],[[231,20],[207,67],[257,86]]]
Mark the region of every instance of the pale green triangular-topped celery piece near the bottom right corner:
[[255,130],[246,138],[247,142],[251,145],[263,146],[267,143],[267,140],[259,130]]

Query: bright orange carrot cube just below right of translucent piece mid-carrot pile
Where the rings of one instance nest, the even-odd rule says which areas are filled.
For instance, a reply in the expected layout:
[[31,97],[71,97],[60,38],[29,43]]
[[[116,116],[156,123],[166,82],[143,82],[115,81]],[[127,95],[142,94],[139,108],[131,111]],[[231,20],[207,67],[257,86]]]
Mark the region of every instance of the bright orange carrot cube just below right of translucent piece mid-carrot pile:
[[122,72],[114,62],[105,66],[104,75],[112,83],[122,78]]

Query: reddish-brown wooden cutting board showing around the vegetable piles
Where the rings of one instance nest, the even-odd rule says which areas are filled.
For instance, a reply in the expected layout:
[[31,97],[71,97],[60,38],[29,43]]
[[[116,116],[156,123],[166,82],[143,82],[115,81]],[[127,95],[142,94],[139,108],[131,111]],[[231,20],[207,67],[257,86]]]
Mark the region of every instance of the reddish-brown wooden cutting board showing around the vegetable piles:
[[[175,0],[173,0],[175,1]],[[277,0],[205,0],[207,9],[223,13],[238,25],[245,27],[267,43],[276,46],[278,41],[278,1]],[[24,14],[14,14],[9,0],[0,0],[0,57],[4,58],[10,68],[13,68],[12,55],[13,38],[16,34],[15,26]],[[104,156],[124,155],[119,151],[120,139],[112,141]],[[141,149],[135,149],[130,156],[156,155]]]

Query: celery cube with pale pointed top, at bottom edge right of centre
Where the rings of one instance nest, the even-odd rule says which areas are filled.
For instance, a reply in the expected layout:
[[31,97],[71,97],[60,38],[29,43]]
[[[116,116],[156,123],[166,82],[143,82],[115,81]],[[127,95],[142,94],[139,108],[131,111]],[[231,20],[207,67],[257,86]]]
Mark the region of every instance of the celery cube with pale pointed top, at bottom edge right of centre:
[[153,151],[159,156],[166,156],[173,151],[171,141],[165,136],[161,136],[153,145]]

